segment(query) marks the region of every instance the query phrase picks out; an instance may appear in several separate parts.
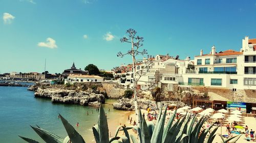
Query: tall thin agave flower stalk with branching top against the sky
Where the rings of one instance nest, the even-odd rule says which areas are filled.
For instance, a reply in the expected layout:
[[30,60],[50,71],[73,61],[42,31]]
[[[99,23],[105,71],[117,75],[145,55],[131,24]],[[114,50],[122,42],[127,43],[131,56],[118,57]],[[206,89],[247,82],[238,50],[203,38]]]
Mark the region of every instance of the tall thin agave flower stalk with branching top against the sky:
[[[137,101],[137,82],[140,78],[135,78],[136,75],[138,73],[141,73],[140,75],[142,75],[142,72],[143,70],[139,70],[138,72],[136,72],[136,65],[138,65],[140,62],[142,62],[143,60],[136,60],[136,56],[137,55],[144,55],[144,54],[147,54],[147,50],[146,49],[143,49],[143,50],[139,50],[140,47],[143,46],[143,41],[144,41],[144,38],[143,37],[139,37],[139,36],[136,36],[137,32],[135,30],[133,30],[132,28],[130,28],[129,30],[126,31],[126,34],[128,35],[128,38],[126,37],[123,37],[120,39],[120,42],[122,43],[130,43],[132,46],[131,46],[131,49],[128,50],[126,53],[122,53],[121,51],[117,53],[117,56],[120,56],[121,58],[124,56],[124,55],[131,55],[132,56],[132,59],[133,59],[133,75],[132,75],[132,78],[133,78],[133,91],[134,91],[134,105],[135,105],[135,113],[136,113],[136,122],[138,123],[138,120],[139,120],[139,107],[138,107],[138,101]],[[146,68],[146,66],[144,67]]]

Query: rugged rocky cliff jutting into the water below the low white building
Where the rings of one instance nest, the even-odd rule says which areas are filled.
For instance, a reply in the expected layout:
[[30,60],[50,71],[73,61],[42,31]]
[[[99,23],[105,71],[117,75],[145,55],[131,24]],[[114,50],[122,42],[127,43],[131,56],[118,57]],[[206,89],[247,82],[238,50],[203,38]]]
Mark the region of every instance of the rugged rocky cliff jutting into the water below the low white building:
[[102,94],[77,92],[75,90],[38,88],[34,96],[50,98],[53,103],[80,104],[83,106],[98,106],[99,103],[105,103],[105,97]]

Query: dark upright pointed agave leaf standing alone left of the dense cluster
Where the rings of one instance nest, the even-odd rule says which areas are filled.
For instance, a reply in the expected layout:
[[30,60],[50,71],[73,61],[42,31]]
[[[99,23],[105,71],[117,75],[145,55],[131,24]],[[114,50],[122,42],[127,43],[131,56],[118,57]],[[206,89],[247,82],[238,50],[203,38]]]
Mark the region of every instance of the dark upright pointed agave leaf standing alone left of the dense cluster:
[[99,109],[98,127],[99,127],[99,142],[109,143],[108,121],[106,120],[105,111],[102,105],[100,105],[100,109]]

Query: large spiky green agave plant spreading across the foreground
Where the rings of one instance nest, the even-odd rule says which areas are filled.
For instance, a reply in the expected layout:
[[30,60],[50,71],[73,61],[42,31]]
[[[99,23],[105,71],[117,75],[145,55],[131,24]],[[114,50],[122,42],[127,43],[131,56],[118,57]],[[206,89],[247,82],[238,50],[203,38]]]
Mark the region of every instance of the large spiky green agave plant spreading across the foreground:
[[[183,118],[179,119],[174,123],[176,111],[173,113],[172,117],[170,117],[166,126],[164,126],[165,118],[166,118],[166,107],[164,113],[162,114],[162,108],[160,110],[159,117],[157,119],[156,125],[152,122],[147,122],[141,115],[141,111],[139,110],[139,126],[134,127],[124,127],[119,126],[117,127],[115,136],[113,138],[109,138],[109,128],[108,122],[106,120],[105,112],[102,106],[100,106],[99,110],[99,119],[98,124],[93,126],[93,134],[96,143],[116,143],[116,142],[123,142],[123,143],[169,143],[169,142],[191,142],[191,143],[210,143],[214,140],[216,136],[216,131],[218,127],[214,130],[209,132],[212,128],[212,125],[208,129],[204,129],[201,133],[200,130],[207,120],[207,117],[202,117],[199,122],[195,124],[196,116],[191,116],[187,113]],[[85,143],[82,136],[74,129],[69,122],[63,118],[61,115],[60,119],[62,124],[64,125],[68,136],[65,139],[51,133],[47,130],[41,129],[39,126],[32,127],[32,129],[46,142],[53,142],[53,143]],[[174,124],[173,124],[174,123]],[[129,134],[127,130],[134,128],[138,131],[139,140],[133,135]],[[118,132],[123,131],[125,136],[118,136]],[[208,135],[208,137],[206,137]],[[26,138],[23,136],[19,136],[30,143],[38,143],[30,138]],[[235,142],[239,139],[240,136],[233,136],[228,139],[224,139],[222,136],[223,143],[226,142]],[[233,141],[230,141],[232,140]]]

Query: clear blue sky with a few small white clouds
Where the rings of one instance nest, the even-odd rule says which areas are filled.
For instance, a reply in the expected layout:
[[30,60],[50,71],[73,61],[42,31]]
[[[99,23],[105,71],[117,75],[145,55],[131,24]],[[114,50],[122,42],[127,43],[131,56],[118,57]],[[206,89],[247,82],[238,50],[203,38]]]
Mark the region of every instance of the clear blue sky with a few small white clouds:
[[50,73],[73,61],[82,69],[129,64],[116,56],[131,47],[119,41],[129,28],[152,55],[239,50],[245,36],[256,38],[256,0],[0,0],[1,73],[42,72],[45,59]]

